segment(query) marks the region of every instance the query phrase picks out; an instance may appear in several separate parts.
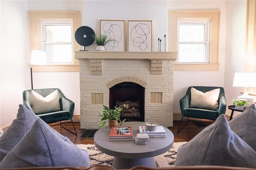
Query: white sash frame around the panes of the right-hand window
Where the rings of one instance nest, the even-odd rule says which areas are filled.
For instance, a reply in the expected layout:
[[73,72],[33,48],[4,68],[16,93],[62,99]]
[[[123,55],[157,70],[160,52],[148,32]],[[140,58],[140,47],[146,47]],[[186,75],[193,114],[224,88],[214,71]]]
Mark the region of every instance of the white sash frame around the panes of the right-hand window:
[[[180,42],[179,40],[179,27],[180,24],[204,24],[204,42]],[[205,58],[205,62],[180,62],[179,60],[179,53],[178,53],[178,59],[177,59],[177,63],[210,63],[210,19],[208,18],[190,18],[190,19],[178,19],[177,20],[177,51],[179,51],[179,44],[206,44],[206,58]]]

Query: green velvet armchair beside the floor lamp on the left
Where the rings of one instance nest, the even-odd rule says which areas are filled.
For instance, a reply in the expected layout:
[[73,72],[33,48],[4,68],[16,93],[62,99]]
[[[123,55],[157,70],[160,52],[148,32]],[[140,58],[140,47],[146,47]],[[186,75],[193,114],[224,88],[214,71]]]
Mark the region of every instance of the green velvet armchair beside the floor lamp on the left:
[[[71,100],[67,99],[60,89],[33,89],[33,91],[42,95],[43,97],[48,96],[50,93],[52,93],[55,90],[58,90],[59,101],[60,101],[60,111],[38,114],[38,117],[40,117],[46,123],[60,122],[60,126],[64,129],[68,130],[67,128],[62,126],[62,124],[64,124],[64,123],[62,123],[61,121],[71,120],[70,122],[72,123],[72,125],[74,127],[72,118],[73,118],[73,114],[74,114],[75,103],[72,102]],[[33,111],[31,108],[31,91],[32,90],[23,91],[23,104],[28,109]],[[70,122],[65,122],[65,123],[70,123]],[[77,135],[75,127],[74,127],[74,130],[75,130],[75,133],[71,132],[70,130],[68,130],[68,131]]]

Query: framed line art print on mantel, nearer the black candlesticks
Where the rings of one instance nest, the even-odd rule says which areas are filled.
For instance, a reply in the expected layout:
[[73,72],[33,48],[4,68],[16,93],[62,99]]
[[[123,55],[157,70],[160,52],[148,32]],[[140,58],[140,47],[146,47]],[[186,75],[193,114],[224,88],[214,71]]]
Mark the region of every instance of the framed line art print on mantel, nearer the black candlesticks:
[[128,21],[128,51],[152,51],[152,21]]

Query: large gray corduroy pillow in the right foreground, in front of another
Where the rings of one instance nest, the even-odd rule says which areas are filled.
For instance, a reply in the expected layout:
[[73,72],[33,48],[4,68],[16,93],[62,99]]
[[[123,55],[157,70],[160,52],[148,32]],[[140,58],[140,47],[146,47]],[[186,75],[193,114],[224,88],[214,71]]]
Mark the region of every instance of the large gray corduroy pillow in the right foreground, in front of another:
[[231,131],[225,115],[178,148],[176,166],[215,165],[256,168],[256,152]]

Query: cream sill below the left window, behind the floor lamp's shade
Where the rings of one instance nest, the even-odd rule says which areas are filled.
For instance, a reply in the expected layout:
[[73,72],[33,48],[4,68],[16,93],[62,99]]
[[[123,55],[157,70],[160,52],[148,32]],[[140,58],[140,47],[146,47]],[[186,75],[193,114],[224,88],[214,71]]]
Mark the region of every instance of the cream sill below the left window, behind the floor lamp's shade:
[[32,66],[33,72],[79,72],[78,65],[70,66],[60,66],[60,65],[51,65],[51,66]]

